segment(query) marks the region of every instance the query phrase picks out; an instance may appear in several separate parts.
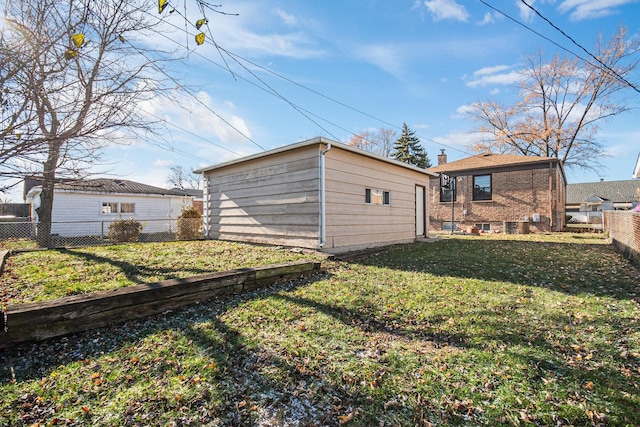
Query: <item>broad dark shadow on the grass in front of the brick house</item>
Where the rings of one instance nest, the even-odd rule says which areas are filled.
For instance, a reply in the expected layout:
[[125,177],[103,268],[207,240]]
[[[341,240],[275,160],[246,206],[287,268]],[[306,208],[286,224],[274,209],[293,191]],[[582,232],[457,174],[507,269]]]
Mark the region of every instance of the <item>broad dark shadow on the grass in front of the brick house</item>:
[[611,245],[445,239],[398,245],[357,263],[544,287],[569,295],[640,297],[640,269]]

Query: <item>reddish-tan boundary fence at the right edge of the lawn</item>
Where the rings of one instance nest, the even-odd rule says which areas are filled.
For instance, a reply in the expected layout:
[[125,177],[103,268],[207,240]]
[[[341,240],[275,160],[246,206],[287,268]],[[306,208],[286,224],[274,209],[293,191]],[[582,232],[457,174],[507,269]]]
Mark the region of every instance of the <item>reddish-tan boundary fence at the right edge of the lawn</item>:
[[636,264],[640,264],[640,212],[605,211],[604,227],[609,242]]

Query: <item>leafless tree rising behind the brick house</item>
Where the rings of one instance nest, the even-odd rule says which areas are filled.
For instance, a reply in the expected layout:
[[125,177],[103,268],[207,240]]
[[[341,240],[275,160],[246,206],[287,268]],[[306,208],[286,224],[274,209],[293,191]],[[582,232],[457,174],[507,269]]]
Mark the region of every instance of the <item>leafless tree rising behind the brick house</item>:
[[604,146],[598,125],[629,111],[621,96],[625,80],[637,68],[640,41],[626,30],[608,42],[598,39],[590,61],[555,56],[545,62],[541,52],[527,59],[519,82],[521,100],[514,105],[478,102],[470,116],[472,131],[483,139],[471,148],[529,156],[555,157],[567,167],[596,170]]

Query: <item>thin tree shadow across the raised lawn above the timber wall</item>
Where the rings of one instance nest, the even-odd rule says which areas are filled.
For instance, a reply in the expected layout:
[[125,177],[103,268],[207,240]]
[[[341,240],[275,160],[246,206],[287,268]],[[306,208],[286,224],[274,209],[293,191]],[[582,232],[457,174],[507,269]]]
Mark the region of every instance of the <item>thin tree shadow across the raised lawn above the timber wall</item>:
[[[85,261],[87,261],[88,263],[91,263],[91,264],[109,264],[109,265],[112,265],[112,266],[116,267],[117,269],[119,269],[122,272],[122,274],[125,275],[127,280],[130,280],[131,282],[136,283],[136,284],[147,283],[148,280],[145,280],[145,278],[149,278],[149,277],[161,276],[164,279],[178,279],[179,278],[176,274],[174,274],[175,273],[175,268],[171,268],[171,267],[149,268],[147,265],[145,265],[143,260],[140,261],[140,264],[133,264],[133,263],[127,262],[127,261],[118,261],[118,260],[114,260],[112,258],[99,256],[99,255],[92,254],[92,253],[89,253],[89,252],[84,252],[84,251],[82,251],[80,249],[52,249],[52,250],[55,250],[57,252],[60,252],[62,254],[66,254],[66,255],[69,255],[69,256],[75,256],[75,257],[82,258],[82,259],[84,259]],[[211,273],[211,270],[210,269],[191,268],[191,269],[189,269],[189,272],[192,275],[195,276],[195,275],[200,275],[200,274]]]

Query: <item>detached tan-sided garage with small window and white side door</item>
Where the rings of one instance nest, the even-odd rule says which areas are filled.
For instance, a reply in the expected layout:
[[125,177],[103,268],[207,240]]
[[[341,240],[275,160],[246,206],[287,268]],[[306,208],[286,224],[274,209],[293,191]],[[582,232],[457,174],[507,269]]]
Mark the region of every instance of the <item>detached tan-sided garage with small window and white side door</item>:
[[314,138],[202,168],[205,236],[342,252],[425,237],[425,169]]

